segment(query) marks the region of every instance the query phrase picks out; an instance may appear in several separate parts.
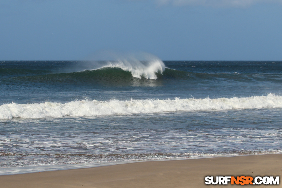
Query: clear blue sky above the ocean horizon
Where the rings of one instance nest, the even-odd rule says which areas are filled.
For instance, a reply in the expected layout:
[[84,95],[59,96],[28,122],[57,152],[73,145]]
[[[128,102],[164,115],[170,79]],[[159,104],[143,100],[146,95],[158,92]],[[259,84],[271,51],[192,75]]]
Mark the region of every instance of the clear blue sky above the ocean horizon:
[[282,0],[0,0],[0,60],[281,60]]

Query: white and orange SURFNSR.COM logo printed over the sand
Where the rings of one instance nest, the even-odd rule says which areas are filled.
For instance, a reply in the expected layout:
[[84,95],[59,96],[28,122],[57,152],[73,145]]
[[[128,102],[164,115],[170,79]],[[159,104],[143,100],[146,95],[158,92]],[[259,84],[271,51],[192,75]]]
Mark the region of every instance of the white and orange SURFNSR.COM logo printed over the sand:
[[210,185],[211,183],[213,185],[227,185],[228,182],[230,182],[231,185],[260,185],[262,183],[265,185],[279,185],[279,176],[276,176],[275,178],[273,176],[257,176],[255,178],[252,176],[216,176],[216,178],[213,176],[205,177],[205,183],[207,185]]

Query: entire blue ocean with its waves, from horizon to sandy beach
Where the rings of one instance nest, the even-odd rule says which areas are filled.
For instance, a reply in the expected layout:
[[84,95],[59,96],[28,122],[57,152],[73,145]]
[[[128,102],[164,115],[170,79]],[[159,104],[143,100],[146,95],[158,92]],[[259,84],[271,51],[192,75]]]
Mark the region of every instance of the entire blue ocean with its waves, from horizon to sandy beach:
[[0,175],[282,152],[282,61],[0,61]]

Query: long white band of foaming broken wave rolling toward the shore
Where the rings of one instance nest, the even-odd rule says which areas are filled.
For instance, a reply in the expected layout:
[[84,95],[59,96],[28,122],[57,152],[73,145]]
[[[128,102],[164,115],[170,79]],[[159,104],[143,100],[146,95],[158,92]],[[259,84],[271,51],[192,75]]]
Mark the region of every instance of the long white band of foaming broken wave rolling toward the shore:
[[67,103],[44,102],[36,104],[3,104],[0,119],[44,118],[64,116],[101,116],[114,114],[232,110],[252,108],[282,108],[282,96],[268,94],[243,98],[218,99],[166,99],[166,100],[110,100],[72,101]]

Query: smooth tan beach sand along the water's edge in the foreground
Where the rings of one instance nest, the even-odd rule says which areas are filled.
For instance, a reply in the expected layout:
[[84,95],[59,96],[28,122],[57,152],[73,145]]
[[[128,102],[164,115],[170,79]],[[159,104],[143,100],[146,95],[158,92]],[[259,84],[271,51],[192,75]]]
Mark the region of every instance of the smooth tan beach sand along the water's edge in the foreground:
[[282,154],[146,161],[0,176],[0,187],[282,187],[206,185],[206,176],[281,176]]

